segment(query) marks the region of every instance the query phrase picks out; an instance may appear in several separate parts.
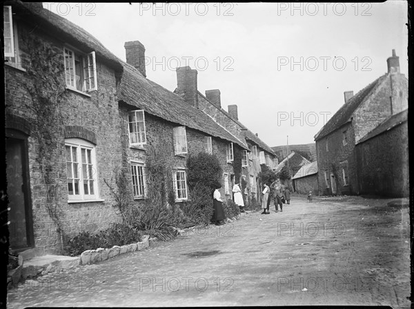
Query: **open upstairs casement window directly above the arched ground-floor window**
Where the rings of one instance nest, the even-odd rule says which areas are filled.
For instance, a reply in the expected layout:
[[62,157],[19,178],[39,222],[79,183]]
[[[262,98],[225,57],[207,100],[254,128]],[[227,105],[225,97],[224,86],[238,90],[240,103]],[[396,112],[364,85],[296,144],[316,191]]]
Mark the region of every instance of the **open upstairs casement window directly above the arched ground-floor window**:
[[63,48],[63,55],[66,86],[83,92],[97,90],[95,52],[83,55],[69,48]]

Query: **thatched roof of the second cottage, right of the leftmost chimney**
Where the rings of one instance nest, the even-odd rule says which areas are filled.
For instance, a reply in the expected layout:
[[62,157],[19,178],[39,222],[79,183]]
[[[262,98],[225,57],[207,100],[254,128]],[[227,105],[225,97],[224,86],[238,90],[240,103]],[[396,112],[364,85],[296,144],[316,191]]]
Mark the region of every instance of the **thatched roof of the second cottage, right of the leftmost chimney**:
[[120,101],[141,108],[162,119],[205,132],[213,137],[231,141],[243,149],[248,149],[242,141],[222,126],[219,126],[208,114],[190,106],[174,92],[146,79],[128,63],[123,62],[122,64],[124,74],[117,95]]

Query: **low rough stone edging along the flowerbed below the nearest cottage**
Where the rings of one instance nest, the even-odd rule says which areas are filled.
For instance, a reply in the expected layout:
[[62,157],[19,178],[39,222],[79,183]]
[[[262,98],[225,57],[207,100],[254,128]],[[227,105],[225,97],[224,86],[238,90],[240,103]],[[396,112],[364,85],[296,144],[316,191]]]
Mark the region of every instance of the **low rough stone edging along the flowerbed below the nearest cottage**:
[[148,241],[149,235],[144,235],[143,241],[139,243],[131,243],[130,245],[124,246],[113,246],[110,249],[97,248],[96,250],[86,250],[81,254],[81,264],[92,264],[99,261],[105,261],[111,259],[112,257],[117,257],[118,255],[123,255],[127,252],[134,252],[149,248],[150,243]]

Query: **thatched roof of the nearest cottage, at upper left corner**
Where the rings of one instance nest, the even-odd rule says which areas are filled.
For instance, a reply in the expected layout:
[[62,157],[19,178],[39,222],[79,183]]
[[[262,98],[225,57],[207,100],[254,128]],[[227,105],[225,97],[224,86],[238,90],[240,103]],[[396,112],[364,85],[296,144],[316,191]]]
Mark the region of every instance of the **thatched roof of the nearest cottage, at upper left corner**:
[[43,8],[41,2],[6,1],[4,5],[11,5],[13,12],[24,22],[33,23],[36,29],[42,30],[72,46],[76,46],[83,52],[92,52],[99,61],[106,63],[117,72],[122,72],[121,63],[101,42],[86,30],[68,21],[58,14]]

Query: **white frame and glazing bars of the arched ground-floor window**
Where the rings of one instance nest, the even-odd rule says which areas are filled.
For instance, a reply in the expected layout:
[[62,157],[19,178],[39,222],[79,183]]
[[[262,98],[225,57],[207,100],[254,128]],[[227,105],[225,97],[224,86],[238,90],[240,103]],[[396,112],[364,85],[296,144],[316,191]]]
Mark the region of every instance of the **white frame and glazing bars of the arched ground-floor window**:
[[[67,147],[70,147],[70,161],[68,161],[68,154],[66,153]],[[76,150],[77,158],[74,158],[73,149]],[[87,152],[90,150],[90,157],[86,156],[86,162],[82,159],[82,150],[85,149]],[[97,157],[95,145],[85,141],[83,139],[70,138],[65,139],[65,156],[66,156],[66,188],[68,190],[68,201],[95,201],[99,198],[98,188],[98,175],[97,175]],[[90,160],[89,160],[90,159]],[[74,161],[76,160],[76,161]],[[68,166],[69,165],[69,166]],[[86,165],[86,169],[84,169]],[[90,166],[90,167],[89,167]],[[70,174],[68,174],[68,168],[70,168]],[[76,170],[76,173],[75,173]],[[86,174],[86,175],[85,175]],[[92,175],[90,175],[92,174]],[[72,177],[70,177],[72,176]],[[77,177],[75,177],[77,176]],[[85,179],[85,177],[87,177]],[[72,179],[72,192],[75,191],[75,181],[78,181],[78,192],[79,194],[69,194],[68,181]],[[88,186],[88,190],[93,190],[93,194],[85,194],[84,180],[88,183],[92,182],[92,187]]]

